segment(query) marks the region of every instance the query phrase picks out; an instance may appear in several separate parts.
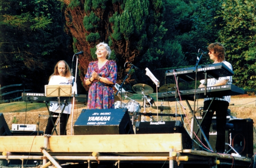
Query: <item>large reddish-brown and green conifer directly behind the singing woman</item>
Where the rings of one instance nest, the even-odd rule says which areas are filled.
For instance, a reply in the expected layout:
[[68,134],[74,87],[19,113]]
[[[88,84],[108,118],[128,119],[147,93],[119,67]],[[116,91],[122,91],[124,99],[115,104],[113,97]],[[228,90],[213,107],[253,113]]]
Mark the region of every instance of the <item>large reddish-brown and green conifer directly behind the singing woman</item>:
[[[118,83],[126,61],[133,63],[150,46],[161,23],[161,0],[63,0],[67,5],[67,26],[74,39],[74,50],[85,51],[79,58],[80,78],[95,59],[95,46],[106,42],[117,61]],[[127,79],[129,82],[129,78]],[[87,88],[88,89],[88,88]]]

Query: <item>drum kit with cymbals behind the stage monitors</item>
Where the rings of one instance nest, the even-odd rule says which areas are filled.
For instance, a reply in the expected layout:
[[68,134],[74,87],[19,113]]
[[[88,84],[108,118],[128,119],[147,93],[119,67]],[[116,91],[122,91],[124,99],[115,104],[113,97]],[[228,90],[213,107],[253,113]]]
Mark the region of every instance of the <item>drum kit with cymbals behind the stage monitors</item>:
[[[119,90],[120,85],[118,85],[117,83],[114,85],[114,87],[116,88],[116,90]],[[174,84],[167,84],[164,86],[161,86],[159,88],[159,92],[167,92],[167,91],[173,91],[174,88]],[[151,115],[147,115],[146,112],[146,107],[152,107],[153,109],[159,109],[162,113],[163,110],[168,110],[170,109],[170,107],[168,106],[153,106],[154,103],[154,98],[151,97],[149,94],[152,94],[154,92],[153,88],[151,86],[148,86],[146,84],[135,84],[134,86],[132,86],[132,90],[134,92],[136,92],[137,94],[143,94],[142,99],[143,99],[143,105],[142,107],[144,107],[144,111],[142,113],[140,113],[142,107],[140,105],[139,102],[131,99],[131,97],[133,97],[134,95],[126,90],[124,90],[122,88],[122,90],[120,90],[118,92],[118,96],[116,96],[114,94],[114,108],[115,109],[123,109],[123,108],[127,108],[128,109],[128,113],[130,115],[130,119],[132,121],[132,124],[134,124],[134,121],[141,121],[141,122],[147,122],[147,121],[154,121],[154,117]],[[175,90],[175,89],[174,89]],[[122,96],[128,99],[130,99],[130,101],[128,102],[122,102]]]

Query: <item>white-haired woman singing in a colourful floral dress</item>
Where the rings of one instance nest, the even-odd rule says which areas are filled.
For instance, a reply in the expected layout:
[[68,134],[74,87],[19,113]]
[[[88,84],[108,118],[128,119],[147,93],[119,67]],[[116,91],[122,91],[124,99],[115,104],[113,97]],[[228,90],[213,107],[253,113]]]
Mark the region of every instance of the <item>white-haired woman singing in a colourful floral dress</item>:
[[97,46],[98,60],[89,63],[84,81],[91,85],[88,93],[87,109],[114,109],[114,86],[117,78],[117,65],[115,61],[108,60],[111,54],[106,43]]

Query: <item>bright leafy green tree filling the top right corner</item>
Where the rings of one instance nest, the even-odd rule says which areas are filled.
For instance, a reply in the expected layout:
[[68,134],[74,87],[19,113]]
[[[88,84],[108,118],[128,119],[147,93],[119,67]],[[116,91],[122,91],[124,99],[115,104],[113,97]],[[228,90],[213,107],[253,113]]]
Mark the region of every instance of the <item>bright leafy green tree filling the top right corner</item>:
[[220,10],[219,40],[232,63],[233,83],[248,90],[256,89],[256,11],[255,0],[224,0]]

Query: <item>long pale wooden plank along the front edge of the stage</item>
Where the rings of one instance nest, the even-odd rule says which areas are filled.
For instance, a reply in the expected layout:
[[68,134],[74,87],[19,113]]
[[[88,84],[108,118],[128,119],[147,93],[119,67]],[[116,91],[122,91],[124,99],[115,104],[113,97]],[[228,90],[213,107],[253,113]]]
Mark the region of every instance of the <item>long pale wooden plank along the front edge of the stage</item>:
[[[0,137],[0,152],[39,152],[43,136]],[[51,136],[50,152],[169,152],[182,150],[181,133]]]

